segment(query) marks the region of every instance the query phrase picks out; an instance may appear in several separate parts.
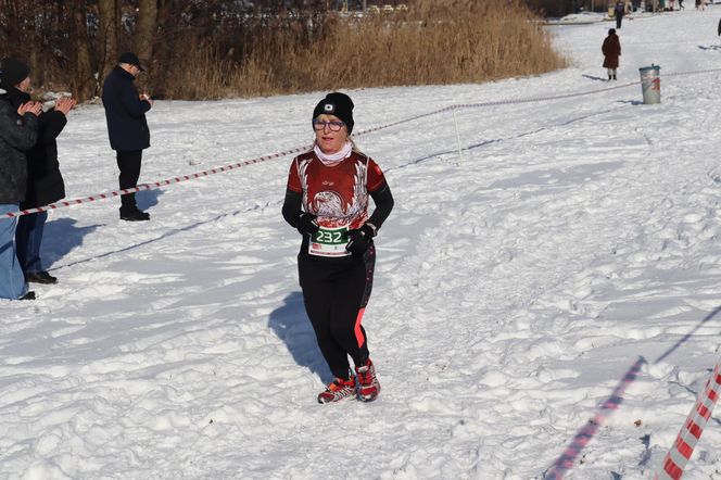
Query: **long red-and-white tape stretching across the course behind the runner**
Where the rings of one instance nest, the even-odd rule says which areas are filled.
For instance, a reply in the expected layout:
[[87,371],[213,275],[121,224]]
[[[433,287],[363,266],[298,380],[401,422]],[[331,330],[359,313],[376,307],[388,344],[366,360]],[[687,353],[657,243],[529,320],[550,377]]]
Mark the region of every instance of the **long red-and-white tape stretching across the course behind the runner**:
[[[694,75],[694,74],[705,74],[705,73],[713,73],[713,72],[721,72],[721,68],[711,68],[711,70],[704,70],[704,71],[668,74],[668,76]],[[533,102],[548,102],[548,101],[554,101],[554,100],[562,100],[562,99],[574,98],[574,97],[583,97],[583,96],[587,96],[587,94],[603,93],[605,91],[618,90],[620,88],[631,87],[633,85],[638,85],[638,84],[640,84],[640,81],[631,81],[631,83],[628,83],[628,84],[616,85],[614,87],[600,88],[600,89],[597,89],[597,90],[586,90],[586,91],[581,91],[581,92],[564,93],[564,94],[558,94],[558,96],[553,96],[553,97],[534,97],[534,98],[517,99],[517,100],[497,100],[497,101],[493,101],[493,102],[481,102],[481,103],[459,103],[459,104],[455,104],[455,105],[444,106],[443,109],[434,110],[432,112],[423,113],[423,114],[420,114],[420,115],[415,115],[415,116],[404,118],[404,119],[401,119],[401,121],[397,121],[397,122],[393,122],[393,123],[390,123],[390,124],[381,125],[381,126],[374,127],[374,128],[368,128],[368,129],[362,130],[362,131],[359,131],[355,135],[356,135],[356,137],[359,137],[362,135],[368,135],[368,134],[371,134],[374,131],[384,130],[387,128],[391,128],[391,127],[394,127],[396,125],[402,125],[402,124],[405,124],[405,123],[408,123],[408,122],[414,122],[414,121],[417,121],[417,119],[420,119],[420,118],[425,118],[427,116],[438,115],[439,113],[450,112],[452,110],[457,110],[457,109],[479,109],[479,108],[483,108],[483,106],[510,105],[510,104],[533,103]],[[94,195],[85,197],[85,198],[81,198],[81,199],[73,199],[73,200],[62,201],[62,202],[58,202],[58,203],[52,203],[50,205],[40,206],[40,207],[37,207],[37,209],[27,209],[27,210],[21,210],[18,212],[10,212],[10,213],[5,213],[5,214],[0,215],[0,218],[3,218],[3,217],[14,218],[14,217],[18,217],[18,216],[22,216],[22,215],[27,215],[27,214],[30,214],[30,213],[47,212],[47,211],[50,211],[50,210],[58,210],[58,209],[64,209],[64,207],[72,206],[72,205],[78,205],[80,203],[89,203],[89,202],[94,202],[97,200],[104,200],[104,199],[110,199],[112,197],[119,197],[119,195],[125,194],[125,193],[138,192],[140,190],[153,190],[153,189],[165,187],[165,186],[168,186],[168,185],[172,185],[172,184],[179,184],[180,181],[192,180],[194,178],[200,178],[200,177],[207,177],[208,175],[215,175],[215,174],[219,174],[219,173],[224,173],[224,172],[229,172],[233,168],[240,168],[242,166],[248,166],[248,165],[252,165],[252,164],[255,164],[255,163],[265,162],[265,161],[278,159],[278,157],[281,157],[281,156],[287,156],[287,155],[290,155],[290,154],[293,154],[293,153],[304,152],[308,149],[311,149],[311,146],[298,147],[298,148],[294,148],[294,149],[291,149],[291,150],[287,150],[284,152],[273,153],[273,154],[269,154],[269,155],[260,156],[257,159],[246,160],[244,162],[239,162],[239,163],[235,163],[235,164],[230,164],[230,165],[226,165],[226,166],[222,166],[222,167],[211,168],[210,170],[199,172],[197,174],[184,175],[181,177],[174,177],[174,178],[169,178],[167,180],[160,180],[160,181],[153,181],[153,182],[150,182],[150,184],[143,184],[143,185],[139,185],[137,187],[125,189],[125,190],[113,190],[113,191],[105,192],[105,193],[98,193],[98,194],[94,194]]]

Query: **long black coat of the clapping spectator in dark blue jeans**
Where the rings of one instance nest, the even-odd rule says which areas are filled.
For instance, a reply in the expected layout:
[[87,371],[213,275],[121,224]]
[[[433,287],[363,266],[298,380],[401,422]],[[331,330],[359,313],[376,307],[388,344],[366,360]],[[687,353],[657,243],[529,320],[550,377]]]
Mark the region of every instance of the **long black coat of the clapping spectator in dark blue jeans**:
[[[30,101],[30,96],[16,88],[8,88],[15,109]],[[65,182],[60,174],[58,142],[67,118],[63,112],[51,109],[38,117],[38,139],[27,152],[27,192],[21,209],[35,209],[65,198]]]

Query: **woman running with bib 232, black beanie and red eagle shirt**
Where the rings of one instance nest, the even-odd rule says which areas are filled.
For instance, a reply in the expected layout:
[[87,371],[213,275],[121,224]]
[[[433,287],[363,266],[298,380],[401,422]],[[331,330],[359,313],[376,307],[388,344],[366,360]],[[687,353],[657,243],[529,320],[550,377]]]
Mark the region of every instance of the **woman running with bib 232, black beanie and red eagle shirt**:
[[[303,302],[334,377],[319,403],[353,396],[369,402],[380,392],[360,320],[372,287],[372,239],[393,209],[393,195],[378,164],[350,137],[353,106],[340,92],[316,105],[315,144],[293,159],[282,206],[286,222],[303,236],[298,255]],[[376,204],[370,216],[369,198]]]

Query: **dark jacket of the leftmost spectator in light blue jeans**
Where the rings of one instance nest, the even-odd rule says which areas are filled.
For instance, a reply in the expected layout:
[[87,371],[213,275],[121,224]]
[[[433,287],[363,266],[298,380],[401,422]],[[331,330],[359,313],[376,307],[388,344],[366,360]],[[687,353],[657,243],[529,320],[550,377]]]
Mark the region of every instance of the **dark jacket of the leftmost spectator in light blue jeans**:
[[38,138],[38,118],[17,115],[5,90],[0,90],[0,204],[20,203],[27,188],[27,159]]

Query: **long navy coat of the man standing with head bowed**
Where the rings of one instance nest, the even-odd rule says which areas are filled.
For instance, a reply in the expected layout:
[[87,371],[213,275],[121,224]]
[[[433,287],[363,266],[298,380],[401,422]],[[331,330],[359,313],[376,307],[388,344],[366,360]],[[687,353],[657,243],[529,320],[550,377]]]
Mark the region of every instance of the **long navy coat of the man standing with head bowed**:
[[103,83],[110,146],[122,152],[150,147],[150,130],[146,121],[150,102],[138,98],[134,79],[132,75],[116,66]]

